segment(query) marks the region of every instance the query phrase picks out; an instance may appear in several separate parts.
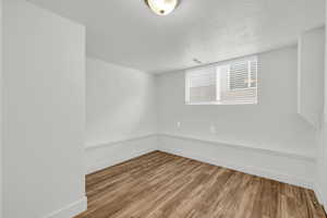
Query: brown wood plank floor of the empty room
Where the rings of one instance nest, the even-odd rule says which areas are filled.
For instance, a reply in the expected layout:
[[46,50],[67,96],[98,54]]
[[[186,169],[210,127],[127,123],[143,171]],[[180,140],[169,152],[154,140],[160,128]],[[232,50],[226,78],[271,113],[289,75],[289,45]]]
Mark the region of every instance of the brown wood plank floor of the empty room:
[[77,218],[326,218],[312,191],[155,152],[86,177]]

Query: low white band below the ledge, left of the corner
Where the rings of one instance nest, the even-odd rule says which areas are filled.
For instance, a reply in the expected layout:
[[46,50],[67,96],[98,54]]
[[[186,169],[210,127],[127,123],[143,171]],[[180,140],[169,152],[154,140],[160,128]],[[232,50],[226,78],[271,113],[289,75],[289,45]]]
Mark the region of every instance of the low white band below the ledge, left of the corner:
[[86,174],[157,150],[157,135],[129,138],[86,148]]

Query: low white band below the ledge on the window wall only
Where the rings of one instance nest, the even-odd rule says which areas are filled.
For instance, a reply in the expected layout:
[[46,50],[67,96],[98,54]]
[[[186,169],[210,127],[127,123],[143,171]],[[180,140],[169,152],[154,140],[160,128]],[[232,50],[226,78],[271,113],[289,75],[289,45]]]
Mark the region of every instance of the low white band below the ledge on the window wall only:
[[313,189],[315,160],[299,155],[220,145],[175,135],[159,135],[161,152],[196,159],[245,173]]

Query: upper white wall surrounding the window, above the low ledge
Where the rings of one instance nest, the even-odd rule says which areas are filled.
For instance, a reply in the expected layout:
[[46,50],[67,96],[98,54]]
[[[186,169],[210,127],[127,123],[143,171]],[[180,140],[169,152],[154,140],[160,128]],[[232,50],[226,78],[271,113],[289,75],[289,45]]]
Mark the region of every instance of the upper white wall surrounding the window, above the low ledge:
[[258,55],[258,105],[189,106],[184,72],[159,75],[159,132],[314,157],[315,131],[296,112],[296,57],[295,46]]

